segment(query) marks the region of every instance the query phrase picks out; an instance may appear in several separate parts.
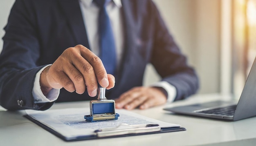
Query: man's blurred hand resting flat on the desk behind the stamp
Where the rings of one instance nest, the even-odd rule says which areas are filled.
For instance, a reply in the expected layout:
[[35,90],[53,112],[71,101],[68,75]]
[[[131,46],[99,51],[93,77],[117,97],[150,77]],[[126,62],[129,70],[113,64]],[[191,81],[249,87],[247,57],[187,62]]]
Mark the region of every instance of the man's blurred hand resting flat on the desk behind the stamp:
[[166,103],[166,95],[157,87],[135,87],[115,100],[116,108],[146,109]]

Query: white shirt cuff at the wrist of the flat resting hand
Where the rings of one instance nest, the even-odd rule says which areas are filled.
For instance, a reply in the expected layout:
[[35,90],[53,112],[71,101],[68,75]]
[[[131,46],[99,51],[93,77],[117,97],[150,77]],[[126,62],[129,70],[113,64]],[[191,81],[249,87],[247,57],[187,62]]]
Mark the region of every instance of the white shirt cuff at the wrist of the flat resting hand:
[[155,86],[155,87],[162,87],[164,88],[164,90],[166,90],[167,92],[167,102],[173,102],[176,95],[177,95],[177,91],[175,86],[169,84],[166,81],[161,81],[161,82],[156,82],[154,84],[151,84],[150,86]]

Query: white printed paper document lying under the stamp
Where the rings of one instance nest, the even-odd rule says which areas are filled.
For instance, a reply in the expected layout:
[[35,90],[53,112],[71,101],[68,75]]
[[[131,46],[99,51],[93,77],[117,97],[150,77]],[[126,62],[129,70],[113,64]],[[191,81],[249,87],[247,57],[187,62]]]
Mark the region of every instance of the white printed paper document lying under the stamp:
[[90,115],[88,108],[65,108],[47,111],[26,110],[27,115],[63,135],[67,140],[76,137],[96,135],[94,131],[106,128],[116,128],[121,124],[147,125],[159,124],[161,128],[180,127],[177,124],[162,122],[132,113],[126,110],[116,110],[120,117],[117,120],[87,122],[84,115]]

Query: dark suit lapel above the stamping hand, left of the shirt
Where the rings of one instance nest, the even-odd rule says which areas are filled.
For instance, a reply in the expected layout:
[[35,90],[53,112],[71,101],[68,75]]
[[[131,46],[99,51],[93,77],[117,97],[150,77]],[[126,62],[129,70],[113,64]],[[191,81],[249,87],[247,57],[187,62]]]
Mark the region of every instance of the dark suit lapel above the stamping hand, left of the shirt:
[[59,0],[59,4],[70,24],[76,44],[90,48],[78,0]]

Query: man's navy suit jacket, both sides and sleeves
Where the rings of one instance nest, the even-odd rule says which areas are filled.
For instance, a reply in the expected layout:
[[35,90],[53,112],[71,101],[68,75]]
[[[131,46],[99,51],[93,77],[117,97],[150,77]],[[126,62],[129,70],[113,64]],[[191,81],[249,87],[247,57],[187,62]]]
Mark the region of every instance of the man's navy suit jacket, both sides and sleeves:
[[[198,77],[151,0],[122,0],[125,48],[115,87],[106,97],[115,99],[141,86],[146,64],[155,66],[163,81],[177,89],[181,100],[198,89]],[[90,28],[86,28],[90,29]],[[45,110],[53,103],[34,104],[36,73],[52,64],[61,53],[77,44],[90,49],[78,0],[16,0],[0,55],[0,104],[9,110]],[[96,97],[95,97],[96,98]],[[87,91],[78,95],[61,89],[56,102],[93,100]],[[17,101],[23,101],[19,106]]]

